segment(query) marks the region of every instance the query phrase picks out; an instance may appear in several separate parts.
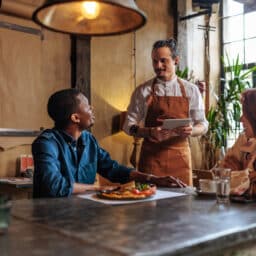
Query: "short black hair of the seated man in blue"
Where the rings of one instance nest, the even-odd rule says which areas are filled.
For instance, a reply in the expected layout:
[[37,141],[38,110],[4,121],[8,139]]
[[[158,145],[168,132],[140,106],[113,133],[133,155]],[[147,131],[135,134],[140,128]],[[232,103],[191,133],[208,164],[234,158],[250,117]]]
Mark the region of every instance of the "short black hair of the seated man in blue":
[[63,128],[69,123],[71,115],[77,111],[80,103],[77,97],[80,93],[72,88],[57,91],[50,96],[47,111],[56,127]]

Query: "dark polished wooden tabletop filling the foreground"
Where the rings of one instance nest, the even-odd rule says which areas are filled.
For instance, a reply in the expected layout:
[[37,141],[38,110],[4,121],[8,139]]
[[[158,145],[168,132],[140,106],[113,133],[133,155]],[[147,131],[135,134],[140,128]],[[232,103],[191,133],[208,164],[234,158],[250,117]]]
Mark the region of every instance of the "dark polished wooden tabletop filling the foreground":
[[256,203],[185,195],[127,205],[78,197],[13,202],[3,256],[232,255],[255,249]]

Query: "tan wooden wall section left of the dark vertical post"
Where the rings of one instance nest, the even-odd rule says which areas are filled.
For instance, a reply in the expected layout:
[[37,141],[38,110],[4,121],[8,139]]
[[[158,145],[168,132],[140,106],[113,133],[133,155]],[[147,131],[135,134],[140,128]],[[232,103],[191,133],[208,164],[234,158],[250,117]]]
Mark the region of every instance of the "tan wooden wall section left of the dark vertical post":
[[[0,15],[0,21],[40,29],[32,21]],[[44,39],[16,30],[0,28],[0,128],[51,127],[46,111],[54,91],[70,87],[70,39],[67,35],[42,31]],[[0,152],[0,176],[16,170],[16,159],[30,153],[17,137],[16,147]],[[8,143],[7,143],[8,144]],[[11,146],[11,145],[10,145]]]

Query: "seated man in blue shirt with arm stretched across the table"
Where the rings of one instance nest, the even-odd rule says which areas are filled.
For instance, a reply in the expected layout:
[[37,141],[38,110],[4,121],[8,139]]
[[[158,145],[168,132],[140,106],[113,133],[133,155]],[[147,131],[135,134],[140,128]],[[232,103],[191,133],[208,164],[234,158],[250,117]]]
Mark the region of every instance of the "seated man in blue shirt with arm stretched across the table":
[[100,190],[94,185],[96,173],[112,182],[135,180],[165,187],[186,186],[172,176],[156,177],[112,160],[86,131],[94,124],[94,115],[88,99],[77,89],[54,93],[47,107],[55,126],[43,131],[32,144],[34,197],[65,197]]

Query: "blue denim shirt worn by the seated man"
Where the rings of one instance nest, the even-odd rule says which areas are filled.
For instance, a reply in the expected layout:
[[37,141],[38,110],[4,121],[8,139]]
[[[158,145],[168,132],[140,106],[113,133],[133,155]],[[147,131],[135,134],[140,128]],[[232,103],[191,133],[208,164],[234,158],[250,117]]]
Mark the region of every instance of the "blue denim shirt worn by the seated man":
[[118,164],[102,149],[90,132],[83,131],[80,161],[76,141],[56,128],[42,132],[32,144],[34,158],[34,197],[70,196],[73,184],[93,184],[96,173],[112,182],[125,183],[133,168]]

